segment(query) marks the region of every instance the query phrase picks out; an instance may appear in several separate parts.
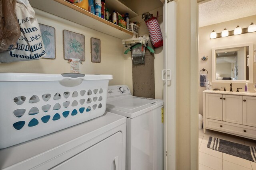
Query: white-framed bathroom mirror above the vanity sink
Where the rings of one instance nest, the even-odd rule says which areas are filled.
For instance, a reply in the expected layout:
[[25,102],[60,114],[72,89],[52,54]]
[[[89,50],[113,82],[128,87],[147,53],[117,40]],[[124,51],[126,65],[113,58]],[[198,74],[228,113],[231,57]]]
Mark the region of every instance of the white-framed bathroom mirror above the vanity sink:
[[212,49],[212,82],[253,83],[253,44]]

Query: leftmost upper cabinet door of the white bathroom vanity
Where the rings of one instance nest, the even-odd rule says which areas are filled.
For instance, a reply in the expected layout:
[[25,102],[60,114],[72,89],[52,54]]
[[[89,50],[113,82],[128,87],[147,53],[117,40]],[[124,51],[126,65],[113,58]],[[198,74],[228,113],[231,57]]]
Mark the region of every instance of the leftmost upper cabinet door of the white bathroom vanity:
[[222,94],[206,93],[205,103],[206,118],[222,121]]

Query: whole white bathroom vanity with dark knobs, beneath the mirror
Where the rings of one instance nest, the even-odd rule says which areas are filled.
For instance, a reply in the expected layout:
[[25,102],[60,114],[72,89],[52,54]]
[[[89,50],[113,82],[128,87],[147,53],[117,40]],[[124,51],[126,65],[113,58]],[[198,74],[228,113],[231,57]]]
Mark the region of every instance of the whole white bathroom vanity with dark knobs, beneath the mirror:
[[203,92],[206,129],[256,140],[256,93]]

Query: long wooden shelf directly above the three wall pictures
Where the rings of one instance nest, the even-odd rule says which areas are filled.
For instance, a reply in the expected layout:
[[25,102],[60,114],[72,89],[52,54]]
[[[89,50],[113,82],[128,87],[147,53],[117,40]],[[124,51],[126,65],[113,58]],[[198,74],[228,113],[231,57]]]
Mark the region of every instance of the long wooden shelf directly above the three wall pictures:
[[[114,2],[117,0],[111,1]],[[30,5],[34,8],[59,16],[66,20],[78,23],[80,25],[84,25],[96,31],[106,33],[113,37],[117,37],[120,39],[128,39],[133,36],[133,33],[131,31],[128,31],[127,29],[124,29],[110,21],[104,20],[65,0],[30,0],[29,2]],[[122,6],[122,8],[124,8],[124,5]],[[127,11],[129,11],[128,9],[129,8],[127,8]]]

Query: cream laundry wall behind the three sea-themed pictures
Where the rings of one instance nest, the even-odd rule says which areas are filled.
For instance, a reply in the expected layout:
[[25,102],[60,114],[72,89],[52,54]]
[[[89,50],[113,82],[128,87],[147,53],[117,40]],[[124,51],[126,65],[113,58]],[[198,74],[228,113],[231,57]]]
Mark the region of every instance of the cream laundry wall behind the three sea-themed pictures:
[[[40,59],[37,61],[25,61],[0,64],[0,72],[25,72],[58,74],[70,72],[70,64],[63,57],[63,30],[73,31],[85,36],[85,61],[80,64],[82,74],[112,74],[110,85],[128,84],[132,81],[132,73],[127,72],[131,67],[126,63],[122,40],[110,35],[84,27],[72,21],[54,16],[52,14],[35,9],[38,23],[55,28],[56,59]],[[101,63],[91,62],[91,37],[100,39]],[[124,76],[126,75],[126,76]]]

